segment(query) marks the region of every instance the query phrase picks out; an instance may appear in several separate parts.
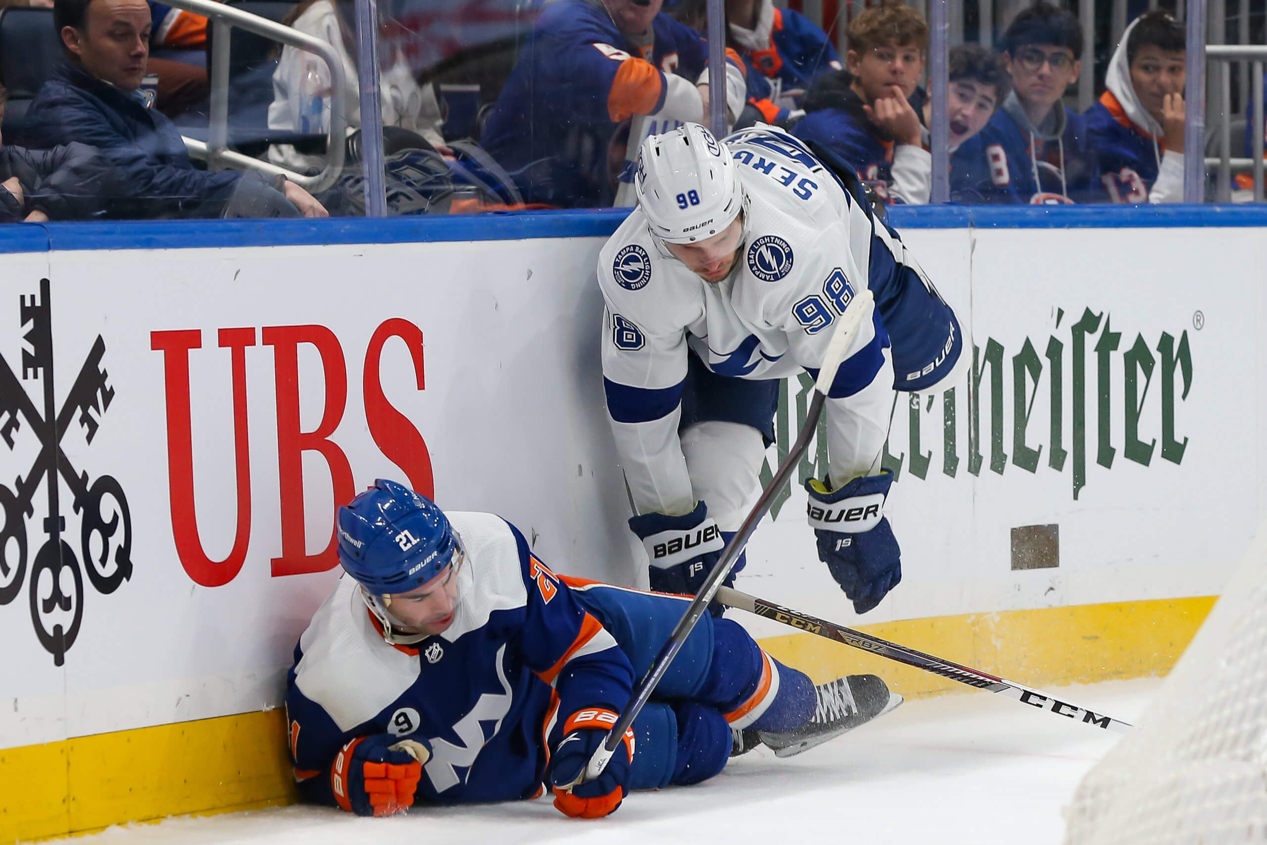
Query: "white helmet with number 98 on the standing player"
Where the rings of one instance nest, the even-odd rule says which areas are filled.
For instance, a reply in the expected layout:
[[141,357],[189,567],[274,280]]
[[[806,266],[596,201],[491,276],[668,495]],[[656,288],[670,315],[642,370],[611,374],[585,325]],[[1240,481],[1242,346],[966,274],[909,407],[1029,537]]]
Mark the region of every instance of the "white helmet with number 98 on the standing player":
[[634,189],[651,234],[670,243],[717,234],[744,205],[730,149],[698,123],[642,142]]

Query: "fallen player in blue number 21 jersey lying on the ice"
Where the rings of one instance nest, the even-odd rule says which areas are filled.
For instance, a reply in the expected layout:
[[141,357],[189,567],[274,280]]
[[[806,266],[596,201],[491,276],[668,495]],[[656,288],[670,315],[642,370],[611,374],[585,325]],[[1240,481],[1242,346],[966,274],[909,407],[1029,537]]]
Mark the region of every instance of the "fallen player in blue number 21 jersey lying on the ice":
[[798,754],[901,703],[875,675],[815,687],[735,622],[701,619],[593,780],[582,773],[687,599],[556,575],[512,524],[388,480],[341,507],[345,576],[288,675],[308,801],[361,816],[536,798],[568,816],[698,783],[758,745]]

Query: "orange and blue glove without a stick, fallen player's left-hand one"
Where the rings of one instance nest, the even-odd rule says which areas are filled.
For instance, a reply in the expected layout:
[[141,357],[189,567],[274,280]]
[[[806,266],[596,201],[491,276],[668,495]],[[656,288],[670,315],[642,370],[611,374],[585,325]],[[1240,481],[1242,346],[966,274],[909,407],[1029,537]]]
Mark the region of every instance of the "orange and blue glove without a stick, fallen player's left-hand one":
[[376,734],[352,740],[338,750],[329,769],[334,801],[357,816],[392,816],[413,804],[422,766],[431,746]]

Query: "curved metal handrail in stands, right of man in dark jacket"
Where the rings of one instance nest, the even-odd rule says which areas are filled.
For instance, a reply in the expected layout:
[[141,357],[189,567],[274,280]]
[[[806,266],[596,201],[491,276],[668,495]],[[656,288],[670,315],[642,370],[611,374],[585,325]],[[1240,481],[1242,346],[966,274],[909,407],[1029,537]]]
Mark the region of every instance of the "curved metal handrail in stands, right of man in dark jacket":
[[[343,94],[347,75],[343,62],[331,44],[302,32],[274,23],[267,18],[226,6],[215,0],[163,0],[167,5],[209,18],[212,27],[212,109],[207,141],[184,138],[190,157],[205,161],[215,168],[257,170],[270,176],[283,175],[309,193],[323,191],[334,184],[343,170],[347,148],[347,117],[343,114]],[[271,162],[243,156],[228,148],[229,130],[229,29],[237,27],[289,47],[315,53],[329,67],[329,132],[326,134],[326,167],[314,176],[296,174]]]

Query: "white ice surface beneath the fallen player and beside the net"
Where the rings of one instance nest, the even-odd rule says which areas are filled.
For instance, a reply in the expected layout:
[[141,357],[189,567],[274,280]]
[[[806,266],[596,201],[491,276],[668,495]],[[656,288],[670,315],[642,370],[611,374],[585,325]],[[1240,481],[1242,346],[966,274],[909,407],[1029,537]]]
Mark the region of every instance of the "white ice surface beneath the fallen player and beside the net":
[[[1062,688],[1062,698],[1131,721],[1159,683]],[[907,702],[797,758],[753,751],[707,783],[635,793],[601,821],[565,818],[547,798],[417,810],[392,818],[300,806],[170,818],[60,841],[1057,845],[1064,831],[1062,806],[1116,739],[1001,696],[968,693]]]

